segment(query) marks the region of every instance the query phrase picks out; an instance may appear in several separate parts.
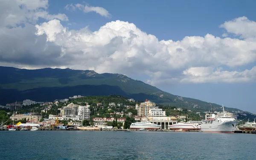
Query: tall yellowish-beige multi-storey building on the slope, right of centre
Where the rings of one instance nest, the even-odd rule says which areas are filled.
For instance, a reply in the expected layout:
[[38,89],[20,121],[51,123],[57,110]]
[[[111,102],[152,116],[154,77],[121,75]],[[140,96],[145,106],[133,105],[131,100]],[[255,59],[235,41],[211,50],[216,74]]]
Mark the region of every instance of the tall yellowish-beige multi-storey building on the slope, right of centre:
[[136,104],[136,109],[138,110],[138,115],[142,116],[142,117],[147,117],[149,116],[149,110],[156,108],[156,104],[148,101],[146,99],[145,102],[141,103],[140,106],[138,104]]

